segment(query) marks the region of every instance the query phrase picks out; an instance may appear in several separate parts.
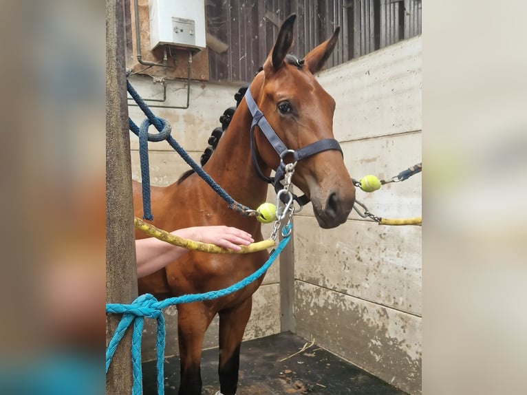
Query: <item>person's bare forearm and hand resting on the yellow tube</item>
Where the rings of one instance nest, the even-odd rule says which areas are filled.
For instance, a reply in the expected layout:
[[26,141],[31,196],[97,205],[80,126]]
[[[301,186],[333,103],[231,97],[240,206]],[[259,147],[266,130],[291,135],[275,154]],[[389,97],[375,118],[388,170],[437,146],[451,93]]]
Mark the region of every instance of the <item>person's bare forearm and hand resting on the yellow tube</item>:
[[[240,250],[240,246],[254,242],[249,233],[230,226],[193,226],[171,233],[184,239],[216,244],[231,250]],[[136,240],[137,276],[140,278],[154,273],[188,252],[186,248],[173,246],[155,237]]]

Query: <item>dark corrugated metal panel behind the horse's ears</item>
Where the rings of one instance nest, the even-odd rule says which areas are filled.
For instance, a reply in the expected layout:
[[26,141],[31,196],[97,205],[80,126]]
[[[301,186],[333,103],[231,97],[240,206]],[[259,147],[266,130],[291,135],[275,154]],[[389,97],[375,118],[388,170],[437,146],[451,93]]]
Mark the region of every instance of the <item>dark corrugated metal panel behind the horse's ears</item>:
[[208,0],[208,32],[228,45],[224,54],[209,52],[211,80],[250,81],[292,12],[298,56],[341,26],[332,67],[420,34],[421,8],[421,0]]

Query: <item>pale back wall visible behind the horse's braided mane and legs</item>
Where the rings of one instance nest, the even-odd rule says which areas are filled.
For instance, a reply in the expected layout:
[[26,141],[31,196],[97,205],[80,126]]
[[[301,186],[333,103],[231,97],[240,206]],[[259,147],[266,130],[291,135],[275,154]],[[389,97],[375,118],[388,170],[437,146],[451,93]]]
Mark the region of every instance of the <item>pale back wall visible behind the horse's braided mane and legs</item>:
[[[149,77],[132,77],[131,83],[142,98],[162,98],[161,85],[153,85]],[[238,85],[219,85],[193,82],[189,109],[162,109],[152,107],[155,115],[165,118],[172,125],[172,136],[197,163],[207,147],[208,137],[215,127],[221,126],[219,116],[227,107],[235,106],[234,94]],[[167,83],[167,101],[164,105],[182,106],[186,104],[184,81]],[[132,103],[132,102],[131,102]],[[148,102],[147,102],[148,103]],[[154,102],[148,103],[149,105]],[[155,103],[159,105],[160,103]],[[129,107],[130,117],[137,125],[144,119],[138,107]],[[151,127],[151,133],[155,128]],[[130,134],[132,178],[141,180],[139,162],[139,140]],[[149,143],[150,180],[152,185],[166,186],[176,180],[189,165],[182,160],[167,142]],[[272,196],[274,192],[270,192]],[[269,197],[273,202],[275,197]],[[177,202],[175,203],[177,204]],[[155,213],[154,213],[155,215]],[[269,225],[264,226],[264,237],[270,235]],[[178,316],[175,307],[166,309],[166,355],[178,354]],[[150,321],[150,320],[149,320]],[[204,348],[217,347],[219,319],[216,317],[208,328]],[[155,325],[144,325],[143,359],[155,358]],[[244,339],[256,339],[280,332],[280,289],[279,261],[275,262],[266,274],[263,285],[253,297],[252,314],[247,325]]]

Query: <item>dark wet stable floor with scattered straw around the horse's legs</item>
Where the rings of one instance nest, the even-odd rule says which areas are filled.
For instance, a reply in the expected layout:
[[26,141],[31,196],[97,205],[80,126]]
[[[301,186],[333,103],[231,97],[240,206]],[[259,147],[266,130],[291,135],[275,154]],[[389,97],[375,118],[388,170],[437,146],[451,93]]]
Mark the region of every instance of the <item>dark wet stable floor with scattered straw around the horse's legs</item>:
[[[299,352],[302,348],[305,350]],[[217,361],[217,349],[203,352],[203,395],[213,395],[219,389]],[[177,394],[180,380],[178,356],[166,358],[164,376],[165,394]],[[157,394],[155,361],[143,363],[143,387],[144,395]],[[281,394],[406,393],[290,332],[244,342],[241,345],[237,395]]]

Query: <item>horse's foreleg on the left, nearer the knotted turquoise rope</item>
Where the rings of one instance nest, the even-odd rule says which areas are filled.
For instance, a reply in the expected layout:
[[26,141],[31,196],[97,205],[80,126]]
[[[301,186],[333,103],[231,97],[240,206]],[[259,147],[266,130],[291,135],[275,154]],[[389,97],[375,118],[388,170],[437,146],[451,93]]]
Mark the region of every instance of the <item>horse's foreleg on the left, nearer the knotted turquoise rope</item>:
[[181,381],[179,395],[200,395],[202,357],[205,330],[211,323],[203,303],[178,306],[178,343],[180,345]]

